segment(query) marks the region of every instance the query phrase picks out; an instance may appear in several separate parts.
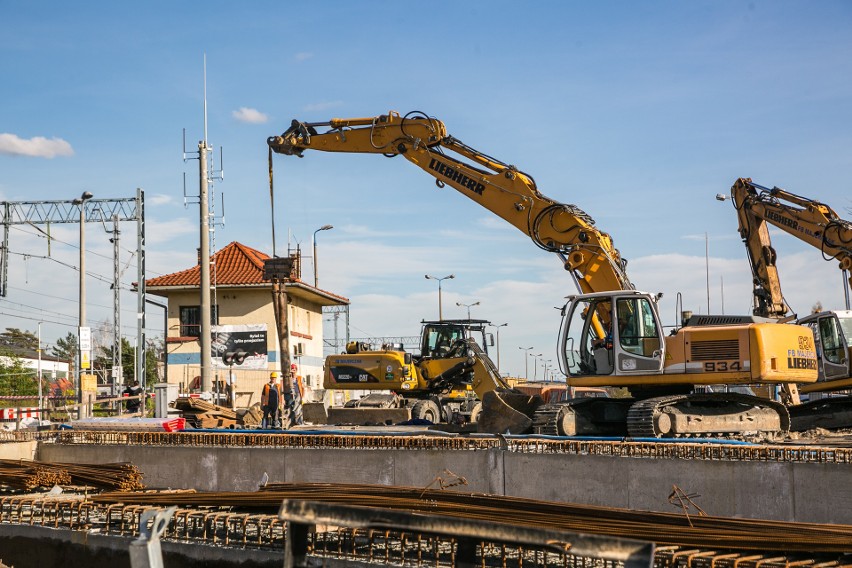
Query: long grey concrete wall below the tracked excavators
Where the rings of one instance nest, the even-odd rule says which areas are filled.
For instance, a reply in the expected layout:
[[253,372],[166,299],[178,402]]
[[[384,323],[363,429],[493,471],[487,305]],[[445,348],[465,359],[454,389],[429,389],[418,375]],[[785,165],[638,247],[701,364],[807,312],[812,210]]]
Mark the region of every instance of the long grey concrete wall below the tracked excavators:
[[[852,464],[522,454],[501,449],[334,450],[42,444],[44,461],[129,461],[150,488],[252,491],[273,482],[378,483],[678,512],[677,485],[714,516],[852,524]],[[447,471],[451,473],[447,473]],[[695,513],[695,511],[693,511]]]

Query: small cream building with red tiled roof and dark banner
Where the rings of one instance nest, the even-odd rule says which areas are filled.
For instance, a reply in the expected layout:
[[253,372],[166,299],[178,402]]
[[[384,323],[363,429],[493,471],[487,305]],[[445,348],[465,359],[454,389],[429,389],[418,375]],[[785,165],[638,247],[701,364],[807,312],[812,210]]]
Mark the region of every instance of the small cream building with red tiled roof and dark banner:
[[[263,263],[268,258],[232,242],[216,252],[210,263],[214,390],[224,392],[229,378],[233,378],[241,405],[257,402],[269,372],[281,370],[272,283],[263,279]],[[348,305],[349,300],[302,282],[300,259],[296,260],[295,277],[285,284],[290,358],[296,374],[302,377],[305,399],[317,400],[322,396],[317,392],[322,389],[322,308]],[[200,264],[146,281],[149,294],[168,299],[168,380],[181,385],[182,391],[200,386],[200,282]]]

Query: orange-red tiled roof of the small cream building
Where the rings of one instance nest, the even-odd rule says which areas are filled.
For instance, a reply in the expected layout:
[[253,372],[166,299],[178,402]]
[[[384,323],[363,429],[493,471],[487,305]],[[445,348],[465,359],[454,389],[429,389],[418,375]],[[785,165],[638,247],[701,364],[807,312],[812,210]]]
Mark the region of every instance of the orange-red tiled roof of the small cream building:
[[[261,284],[263,261],[269,256],[236,241],[211,258],[210,278],[218,285]],[[201,265],[145,281],[147,287],[201,286]]]

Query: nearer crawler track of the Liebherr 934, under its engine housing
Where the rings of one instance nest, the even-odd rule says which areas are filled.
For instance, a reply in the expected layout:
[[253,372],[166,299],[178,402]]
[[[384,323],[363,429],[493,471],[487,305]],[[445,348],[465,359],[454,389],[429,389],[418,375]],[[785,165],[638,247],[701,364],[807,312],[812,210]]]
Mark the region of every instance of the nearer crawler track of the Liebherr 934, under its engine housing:
[[790,414],[778,402],[736,393],[647,398],[627,413],[634,438],[701,437],[790,430]]

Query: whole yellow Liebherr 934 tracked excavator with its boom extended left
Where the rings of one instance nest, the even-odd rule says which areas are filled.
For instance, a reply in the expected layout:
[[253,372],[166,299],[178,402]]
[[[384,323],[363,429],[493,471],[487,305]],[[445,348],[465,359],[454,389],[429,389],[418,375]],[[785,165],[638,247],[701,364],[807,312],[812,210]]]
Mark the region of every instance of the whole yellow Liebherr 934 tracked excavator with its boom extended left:
[[[294,120],[267,144],[270,179],[273,152],[403,156],[439,187],[452,187],[560,258],[580,292],[562,309],[557,354],[568,385],[625,387],[632,398],[542,405],[531,415],[536,432],[652,438],[777,433],[789,429],[784,405],[739,392],[698,393],[695,387],[816,381],[816,352],[807,327],[705,317],[704,325],[665,334],[659,295],[634,289],[611,237],[586,212],[544,196],[531,175],[449,136],[433,117],[390,112],[326,122]],[[513,410],[505,393],[495,389],[481,396],[480,430],[504,432],[500,428],[506,421],[494,417]]]

